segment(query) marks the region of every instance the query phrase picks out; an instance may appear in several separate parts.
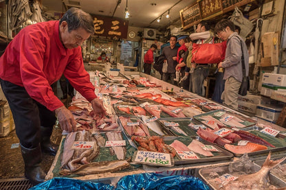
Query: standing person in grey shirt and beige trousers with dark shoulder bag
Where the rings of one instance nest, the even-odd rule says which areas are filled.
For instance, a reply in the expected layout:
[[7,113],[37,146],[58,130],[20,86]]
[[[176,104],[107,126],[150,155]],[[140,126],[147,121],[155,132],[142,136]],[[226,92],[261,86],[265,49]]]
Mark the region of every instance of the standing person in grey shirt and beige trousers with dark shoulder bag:
[[244,40],[234,32],[235,26],[232,21],[222,19],[215,25],[214,32],[221,38],[226,40],[225,60],[220,62],[218,67],[224,68],[223,80],[225,80],[225,88],[221,99],[223,104],[237,110],[237,97],[243,77],[248,78],[248,48]]

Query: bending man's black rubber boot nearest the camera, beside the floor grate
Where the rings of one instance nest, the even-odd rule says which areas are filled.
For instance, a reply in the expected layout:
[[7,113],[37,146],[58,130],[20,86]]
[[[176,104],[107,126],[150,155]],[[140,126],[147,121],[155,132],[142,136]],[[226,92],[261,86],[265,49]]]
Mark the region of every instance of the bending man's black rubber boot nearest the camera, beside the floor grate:
[[41,169],[42,161],[41,147],[29,149],[21,145],[21,152],[25,163],[25,178],[30,180],[33,185],[45,181],[45,172]]

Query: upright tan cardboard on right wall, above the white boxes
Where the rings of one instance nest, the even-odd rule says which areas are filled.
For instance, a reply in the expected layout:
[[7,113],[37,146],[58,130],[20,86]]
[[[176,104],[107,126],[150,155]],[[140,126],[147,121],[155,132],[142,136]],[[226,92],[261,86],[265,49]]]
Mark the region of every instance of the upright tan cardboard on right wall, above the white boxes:
[[261,66],[270,61],[269,66],[278,65],[279,35],[275,32],[267,32],[261,37]]

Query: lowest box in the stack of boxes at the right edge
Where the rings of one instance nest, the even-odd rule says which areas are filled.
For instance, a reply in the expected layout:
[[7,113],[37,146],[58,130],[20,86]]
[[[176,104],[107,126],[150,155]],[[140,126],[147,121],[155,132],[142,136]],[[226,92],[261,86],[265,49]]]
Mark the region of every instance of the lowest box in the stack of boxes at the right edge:
[[277,121],[281,110],[283,109],[283,105],[281,106],[272,106],[272,105],[259,105],[256,109],[256,115],[263,119],[267,119],[269,121]]

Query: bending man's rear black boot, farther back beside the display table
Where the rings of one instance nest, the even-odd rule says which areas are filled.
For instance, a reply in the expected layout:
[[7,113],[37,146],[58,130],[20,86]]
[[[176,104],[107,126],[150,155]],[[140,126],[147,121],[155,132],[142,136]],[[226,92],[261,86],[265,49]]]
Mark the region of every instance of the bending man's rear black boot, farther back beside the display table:
[[50,154],[52,156],[56,156],[56,152],[58,151],[58,146],[54,145],[54,143],[50,141],[52,130],[53,128],[45,128],[41,126],[41,148],[43,152]]

